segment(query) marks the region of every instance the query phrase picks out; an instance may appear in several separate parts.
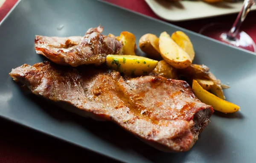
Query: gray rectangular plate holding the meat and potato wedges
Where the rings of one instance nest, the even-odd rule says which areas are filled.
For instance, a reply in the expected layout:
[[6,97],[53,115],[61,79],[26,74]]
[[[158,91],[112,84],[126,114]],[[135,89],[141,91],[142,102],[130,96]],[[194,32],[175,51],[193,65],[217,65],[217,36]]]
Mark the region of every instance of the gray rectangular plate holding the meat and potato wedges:
[[[8,73],[24,63],[45,60],[34,50],[35,35],[83,36],[90,27],[104,25],[104,34],[121,31],[159,35],[181,30],[195,47],[195,63],[209,66],[223,83],[227,100],[241,111],[215,113],[189,152],[160,152],[111,122],[72,114],[44,99],[26,94]],[[64,26],[61,30],[57,28]],[[256,154],[256,56],[199,34],[96,0],[21,0],[0,24],[0,116],[56,138],[125,162],[252,163]],[[138,51],[141,53],[141,51]],[[85,151],[86,152],[86,151]]]

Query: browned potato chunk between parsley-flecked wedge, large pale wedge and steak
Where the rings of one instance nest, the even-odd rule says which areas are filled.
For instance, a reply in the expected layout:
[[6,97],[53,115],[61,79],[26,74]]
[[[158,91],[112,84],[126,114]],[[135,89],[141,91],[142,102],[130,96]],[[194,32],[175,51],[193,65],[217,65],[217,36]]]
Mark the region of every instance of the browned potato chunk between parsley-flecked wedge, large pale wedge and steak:
[[165,60],[159,61],[152,73],[159,74],[167,79],[178,79],[176,68],[169,65]]

